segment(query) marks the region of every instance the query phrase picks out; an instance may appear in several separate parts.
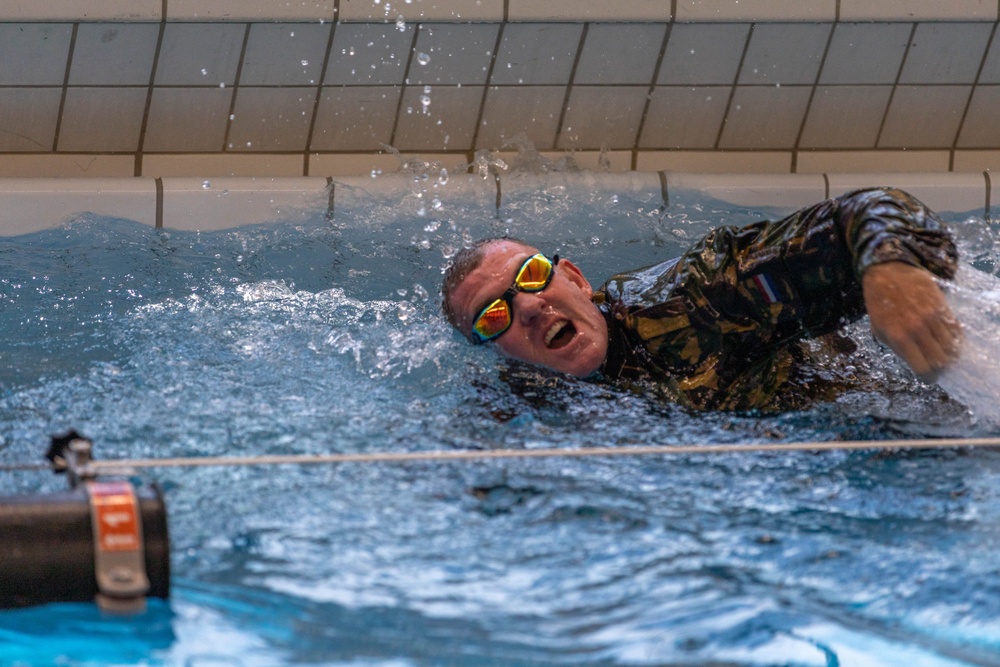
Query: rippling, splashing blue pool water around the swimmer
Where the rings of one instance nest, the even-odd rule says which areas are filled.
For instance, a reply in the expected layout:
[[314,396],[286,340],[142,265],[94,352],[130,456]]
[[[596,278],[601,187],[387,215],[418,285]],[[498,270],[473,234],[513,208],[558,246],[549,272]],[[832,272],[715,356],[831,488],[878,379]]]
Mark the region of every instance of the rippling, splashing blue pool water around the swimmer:
[[[437,310],[463,238],[595,282],[734,210],[567,179],[198,234],[81,217],[0,239],[0,463],[70,427],[104,459],[998,435],[864,324],[779,414],[688,414],[511,366]],[[419,197],[417,195],[420,195]],[[440,206],[433,200],[441,195]],[[995,224],[952,215],[995,272]],[[984,239],[986,242],[984,242]],[[2,472],[5,493],[61,490]],[[158,469],[173,591],[134,618],[0,612],[2,665],[996,665],[1000,452]]]

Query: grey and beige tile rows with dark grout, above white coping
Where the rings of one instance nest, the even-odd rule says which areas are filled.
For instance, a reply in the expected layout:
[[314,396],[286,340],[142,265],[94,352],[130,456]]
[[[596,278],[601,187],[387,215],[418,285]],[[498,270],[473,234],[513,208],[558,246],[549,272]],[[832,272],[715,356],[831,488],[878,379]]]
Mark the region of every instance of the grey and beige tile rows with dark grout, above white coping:
[[211,169],[301,174],[387,146],[468,159],[517,136],[709,171],[1000,155],[994,0],[421,0],[388,14],[341,0],[340,22],[326,0],[171,0],[165,22],[163,3],[61,19],[52,0],[35,22],[23,4],[0,0],[17,19],[0,21],[0,155],[29,171],[205,154],[225,158]]

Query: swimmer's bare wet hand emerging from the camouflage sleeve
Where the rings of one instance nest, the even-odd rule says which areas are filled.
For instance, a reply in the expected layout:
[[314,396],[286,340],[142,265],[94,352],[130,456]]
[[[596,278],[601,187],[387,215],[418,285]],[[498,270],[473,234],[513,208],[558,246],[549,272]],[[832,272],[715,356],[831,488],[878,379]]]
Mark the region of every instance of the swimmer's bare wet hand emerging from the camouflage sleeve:
[[902,262],[876,264],[861,279],[872,333],[925,382],[958,358],[962,328],[934,276]]

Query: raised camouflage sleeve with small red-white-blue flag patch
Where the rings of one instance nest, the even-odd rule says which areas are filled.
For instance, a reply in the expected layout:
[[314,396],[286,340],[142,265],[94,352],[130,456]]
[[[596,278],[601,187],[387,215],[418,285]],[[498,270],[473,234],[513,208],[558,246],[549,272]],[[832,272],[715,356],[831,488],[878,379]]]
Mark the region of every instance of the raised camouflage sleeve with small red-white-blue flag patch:
[[762,327],[763,342],[795,330],[828,333],[863,315],[860,277],[874,264],[901,261],[951,278],[958,256],[926,206],[901,190],[867,189],[778,222],[721,228],[685,260],[682,280],[701,292],[698,300],[722,322]]

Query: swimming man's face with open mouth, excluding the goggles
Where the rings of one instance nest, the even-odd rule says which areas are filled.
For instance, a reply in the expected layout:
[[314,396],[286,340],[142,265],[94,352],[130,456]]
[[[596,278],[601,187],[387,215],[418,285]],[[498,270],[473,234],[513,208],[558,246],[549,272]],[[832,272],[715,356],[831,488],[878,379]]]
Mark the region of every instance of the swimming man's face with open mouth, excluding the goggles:
[[[490,243],[483,261],[455,288],[451,303],[460,330],[514,282],[521,264],[537,250],[510,241]],[[513,321],[495,345],[514,359],[584,377],[597,371],[608,352],[604,316],[590,300],[593,290],[576,266],[559,260],[552,282],[541,292],[518,292]]]

